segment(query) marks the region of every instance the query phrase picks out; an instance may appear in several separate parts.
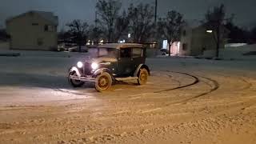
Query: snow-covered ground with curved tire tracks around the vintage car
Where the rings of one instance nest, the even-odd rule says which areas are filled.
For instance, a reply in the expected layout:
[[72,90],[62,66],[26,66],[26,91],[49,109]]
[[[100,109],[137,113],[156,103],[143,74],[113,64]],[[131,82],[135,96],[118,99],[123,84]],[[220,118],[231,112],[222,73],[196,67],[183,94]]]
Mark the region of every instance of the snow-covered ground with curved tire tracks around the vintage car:
[[0,57],[0,143],[256,143],[256,61],[148,58],[145,86],[97,93],[78,59]]

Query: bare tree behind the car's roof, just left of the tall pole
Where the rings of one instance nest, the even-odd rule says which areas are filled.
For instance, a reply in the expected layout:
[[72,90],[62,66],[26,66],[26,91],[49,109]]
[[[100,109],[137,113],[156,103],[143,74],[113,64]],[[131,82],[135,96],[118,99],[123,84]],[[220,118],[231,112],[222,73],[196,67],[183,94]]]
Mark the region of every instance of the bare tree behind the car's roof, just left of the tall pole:
[[149,4],[130,5],[130,30],[134,42],[146,42],[154,32],[154,7]]

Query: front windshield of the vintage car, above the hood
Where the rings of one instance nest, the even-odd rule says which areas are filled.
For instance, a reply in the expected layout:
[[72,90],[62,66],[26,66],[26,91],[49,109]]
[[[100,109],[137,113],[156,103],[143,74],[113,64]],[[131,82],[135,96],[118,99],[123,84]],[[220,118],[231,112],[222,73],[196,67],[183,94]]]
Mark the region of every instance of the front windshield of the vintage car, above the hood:
[[88,54],[93,58],[108,57],[117,58],[117,50],[113,48],[90,48]]

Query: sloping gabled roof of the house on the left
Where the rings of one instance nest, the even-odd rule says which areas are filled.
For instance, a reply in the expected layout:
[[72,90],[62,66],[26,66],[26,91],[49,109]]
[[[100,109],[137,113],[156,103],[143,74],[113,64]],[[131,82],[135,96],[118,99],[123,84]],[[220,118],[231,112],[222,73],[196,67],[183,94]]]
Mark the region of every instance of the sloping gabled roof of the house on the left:
[[18,16],[8,18],[8,19],[6,19],[6,22],[9,22],[9,21],[13,20],[14,18],[22,17],[24,14],[28,14],[28,13],[38,14],[42,18],[46,19],[47,21],[52,22],[54,25],[56,25],[56,26],[58,25],[58,16],[55,16],[52,12],[38,11],[38,10],[30,10],[26,13],[19,14]]

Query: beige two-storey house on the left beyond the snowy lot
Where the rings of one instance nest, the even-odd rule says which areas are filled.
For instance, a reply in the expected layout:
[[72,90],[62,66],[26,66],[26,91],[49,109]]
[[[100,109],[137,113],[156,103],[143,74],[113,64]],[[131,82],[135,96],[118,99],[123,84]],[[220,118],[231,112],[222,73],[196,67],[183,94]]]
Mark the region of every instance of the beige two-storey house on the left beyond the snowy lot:
[[58,17],[51,12],[29,11],[6,20],[12,50],[54,50],[57,28]]

